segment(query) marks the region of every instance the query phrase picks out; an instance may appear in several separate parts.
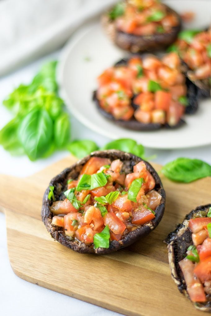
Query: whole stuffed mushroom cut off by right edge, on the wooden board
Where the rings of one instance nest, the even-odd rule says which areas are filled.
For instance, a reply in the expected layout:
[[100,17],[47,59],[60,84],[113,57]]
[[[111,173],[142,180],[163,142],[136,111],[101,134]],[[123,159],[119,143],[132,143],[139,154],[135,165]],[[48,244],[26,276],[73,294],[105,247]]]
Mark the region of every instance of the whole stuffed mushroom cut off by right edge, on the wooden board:
[[211,204],[192,210],[164,242],[179,291],[197,309],[211,312]]

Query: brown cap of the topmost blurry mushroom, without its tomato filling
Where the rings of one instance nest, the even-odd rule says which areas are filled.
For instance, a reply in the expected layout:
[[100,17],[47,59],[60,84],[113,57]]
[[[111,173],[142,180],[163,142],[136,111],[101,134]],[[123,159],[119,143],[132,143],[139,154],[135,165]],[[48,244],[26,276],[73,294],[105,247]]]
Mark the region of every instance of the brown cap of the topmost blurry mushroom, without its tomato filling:
[[171,45],[177,39],[177,34],[182,27],[181,18],[177,12],[167,5],[164,6],[168,13],[176,15],[178,19],[178,25],[172,27],[171,32],[142,36],[124,33],[115,27],[115,21],[109,19],[108,13],[102,16],[102,26],[110,39],[124,50],[132,53],[161,50]]

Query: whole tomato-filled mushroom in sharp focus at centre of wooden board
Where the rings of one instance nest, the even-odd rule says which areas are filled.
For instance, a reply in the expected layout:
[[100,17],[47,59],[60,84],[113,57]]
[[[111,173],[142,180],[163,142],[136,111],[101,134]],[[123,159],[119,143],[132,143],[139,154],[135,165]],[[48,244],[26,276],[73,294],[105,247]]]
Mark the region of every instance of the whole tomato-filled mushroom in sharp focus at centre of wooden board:
[[[91,191],[75,191],[73,193],[75,194],[74,203],[68,204],[68,202],[71,199],[70,197],[68,197],[69,201],[68,199],[65,199],[67,193],[65,196],[64,192],[68,190],[68,188],[69,190],[71,190],[72,187],[78,186],[78,178],[83,178],[81,178],[82,173],[95,173],[94,177],[96,177],[96,171],[98,169],[100,169],[101,171],[101,178],[99,181],[102,181],[102,173],[104,173],[104,177],[108,179],[107,184],[103,187],[98,187]],[[136,172],[136,174],[134,174],[134,172]],[[137,178],[141,176],[143,181],[141,180],[141,178]],[[113,179],[116,180],[113,181]],[[133,179],[136,179],[137,181],[135,181],[134,183]],[[83,179],[81,181],[83,182]],[[121,183],[121,185],[119,183]],[[129,190],[131,190],[132,194],[135,194],[135,187],[136,190],[138,188],[138,191],[136,191],[136,194],[137,192],[139,192],[138,195],[134,195],[136,196],[136,199],[138,201],[137,203],[132,202],[127,198],[129,197],[129,191],[128,188],[125,186],[125,183],[127,183],[127,185],[130,187]],[[86,183],[85,186],[87,189],[89,185],[87,186]],[[55,198],[55,201],[59,201],[56,202],[57,205],[55,205],[55,202],[53,202],[51,198],[52,192],[50,192],[51,190],[49,188],[53,190],[53,197]],[[72,191],[74,191],[74,189]],[[107,193],[109,191],[114,191],[116,193],[111,193],[110,197],[108,197]],[[71,207],[72,209],[72,205],[76,206],[76,202],[78,201],[78,199],[84,201],[84,197],[82,197],[82,195],[84,194],[84,196],[87,196],[88,192],[90,192],[90,196],[88,197],[87,202],[84,205],[82,205],[82,207],[80,207],[78,210],[66,211],[65,207]],[[142,196],[141,194],[144,195]],[[105,201],[103,203],[104,205],[101,205],[99,198],[98,202],[94,199],[94,197],[96,196],[101,196],[103,200],[107,199],[106,201],[109,202],[107,203]],[[113,201],[112,198],[114,198]],[[80,202],[78,203],[80,205]],[[60,204],[60,210],[62,204],[63,212],[60,212],[60,210],[58,210],[58,204]],[[55,206],[53,207],[53,205]],[[90,205],[92,205],[91,208]],[[118,249],[129,246],[139,238],[149,234],[153,229],[156,228],[156,226],[162,219],[164,214],[164,208],[165,191],[163,185],[157,172],[148,162],[143,161],[140,157],[119,150],[105,150],[91,153],[89,156],[86,156],[84,159],[78,161],[71,167],[66,168],[64,171],[62,171],[60,174],[58,174],[55,178],[51,180],[50,185],[47,188],[43,197],[42,221],[44,222],[51,236],[55,240],[59,241],[62,245],[80,253],[103,254],[114,252]],[[54,214],[52,212],[53,209],[55,211]],[[53,216],[55,214],[58,215],[58,213],[63,213],[62,216],[64,216],[64,210],[65,214],[68,212],[73,212],[68,214],[68,216],[71,216],[71,214],[74,214],[74,216],[79,214],[78,221],[74,221],[73,218],[70,217],[71,221],[69,222],[69,226],[67,226],[67,228],[69,227],[68,230],[75,231],[75,223],[77,223],[78,227],[81,226],[79,232],[80,234],[77,233],[77,237],[80,240],[76,237],[75,234],[72,234],[72,237],[66,235],[66,233],[68,233],[68,230],[65,231],[65,228],[53,224],[53,222],[55,222],[53,220]],[[60,216],[60,221],[62,216]],[[67,220],[68,216],[66,217]],[[87,224],[87,222],[89,222],[89,224]],[[63,225],[61,222],[59,224]],[[93,238],[93,230],[98,228],[99,231],[99,225],[102,225],[100,231],[102,231],[102,228],[105,225],[107,225],[107,229],[108,227],[110,228],[110,236],[106,236],[107,248],[104,246],[94,246],[95,237]],[[78,227],[76,228],[79,229]],[[89,228],[88,231],[86,231],[86,228]],[[82,232],[83,229],[84,232]],[[97,237],[99,237],[100,239],[102,235],[99,236],[98,234]],[[102,239],[103,238],[101,238],[101,241]]]

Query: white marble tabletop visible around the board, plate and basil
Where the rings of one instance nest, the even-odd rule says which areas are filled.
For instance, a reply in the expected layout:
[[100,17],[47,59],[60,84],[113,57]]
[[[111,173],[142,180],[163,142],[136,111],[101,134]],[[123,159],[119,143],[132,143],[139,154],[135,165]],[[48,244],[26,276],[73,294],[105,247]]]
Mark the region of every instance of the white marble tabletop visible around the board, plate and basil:
[[[9,76],[0,78],[0,102],[11,90],[20,83],[27,83],[39,69],[42,62],[46,59],[59,58],[59,52],[56,52],[46,58],[42,58],[28,65],[27,67],[16,71]],[[10,113],[0,103],[0,128],[10,119]],[[81,125],[74,117],[72,121],[72,138],[90,138],[95,140],[99,145],[103,145],[109,139],[96,135]],[[185,135],[184,135],[185,137]],[[211,146],[187,150],[146,150],[147,155],[156,154],[154,160],[158,163],[165,164],[177,157],[186,156],[190,158],[199,158],[211,164]],[[0,174],[13,174],[16,176],[27,176],[41,170],[47,165],[58,161],[68,155],[67,152],[55,153],[46,160],[31,162],[27,157],[11,157],[0,147]],[[18,278],[12,271],[9,264],[7,245],[5,216],[0,213],[0,314],[10,315],[51,315],[56,316],[64,311],[66,315],[71,316],[91,316],[91,315],[118,315],[101,307],[73,299],[71,297],[41,288],[37,285],[28,283]],[[68,312],[67,312],[68,311]]]

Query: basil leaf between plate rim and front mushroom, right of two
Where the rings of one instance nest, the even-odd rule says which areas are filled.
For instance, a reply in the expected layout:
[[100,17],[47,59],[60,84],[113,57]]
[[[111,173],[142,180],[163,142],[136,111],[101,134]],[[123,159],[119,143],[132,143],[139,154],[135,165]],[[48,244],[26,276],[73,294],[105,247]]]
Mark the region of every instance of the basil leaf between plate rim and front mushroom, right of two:
[[144,157],[144,146],[138,145],[136,141],[130,138],[121,138],[107,143],[103,150],[108,149],[118,149],[125,151],[126,153],[131,153],[139,157]]

